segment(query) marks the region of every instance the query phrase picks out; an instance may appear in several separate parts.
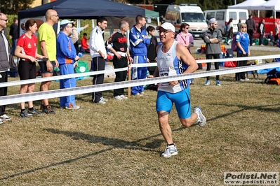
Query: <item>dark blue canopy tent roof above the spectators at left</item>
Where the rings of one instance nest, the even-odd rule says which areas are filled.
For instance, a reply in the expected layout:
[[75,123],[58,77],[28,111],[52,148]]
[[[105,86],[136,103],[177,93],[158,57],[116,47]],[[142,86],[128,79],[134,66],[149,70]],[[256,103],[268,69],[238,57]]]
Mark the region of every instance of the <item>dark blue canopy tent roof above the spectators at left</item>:
[[27,17],[44,16],[46,10],[58,12],[60,19],[96,19],[98,16],[136,17],[145,15],[145,9],[109,0],[58,0],[42,6],[22,10],[19,20]]

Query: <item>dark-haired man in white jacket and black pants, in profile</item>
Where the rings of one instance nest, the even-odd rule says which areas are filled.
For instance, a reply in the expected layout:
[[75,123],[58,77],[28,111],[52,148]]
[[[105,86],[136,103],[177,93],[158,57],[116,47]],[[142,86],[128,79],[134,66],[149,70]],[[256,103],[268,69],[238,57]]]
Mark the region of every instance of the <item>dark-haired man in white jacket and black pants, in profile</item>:
[[[90,52],[93,58],[93,71],[104,71],[105,60],[107,58],[107,51],[104,44],[103,33],[107,27],[107,19],[105,17],[98,17],[97,25],[91,31],[90,37]],[[93,76],[93,85],[102,84],[104,81],[104,73]],[[93,103],[105,104],[107,99],[102,97],[102,92],[93,92]]]

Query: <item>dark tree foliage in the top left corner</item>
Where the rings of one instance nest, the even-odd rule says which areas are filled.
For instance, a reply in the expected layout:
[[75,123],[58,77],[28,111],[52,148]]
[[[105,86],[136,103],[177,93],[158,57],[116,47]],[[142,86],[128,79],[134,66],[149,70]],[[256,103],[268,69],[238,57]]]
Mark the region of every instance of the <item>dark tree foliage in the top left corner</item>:
[[34,0],[0,0],[0,11],[17,15],[18,11],[30,8]]

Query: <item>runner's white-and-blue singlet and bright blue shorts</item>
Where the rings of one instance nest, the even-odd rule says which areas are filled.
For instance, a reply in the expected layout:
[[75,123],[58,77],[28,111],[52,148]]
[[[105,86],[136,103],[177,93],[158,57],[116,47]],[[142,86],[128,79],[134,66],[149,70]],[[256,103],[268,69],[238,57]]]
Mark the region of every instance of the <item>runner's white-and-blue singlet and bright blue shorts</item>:
[[[187,70],[187,64],[178,59],[176,55],[177,41],[174,41],[168,52],[162,52],[160,45],[157,52],[157,66],[159,76],[175,76],[182,74]],[[178,116],[181,119],[189,118],[192,114],[191,103],[189,97],[189,80],[182,80],[175,86],[169,83],[160,83],[156,98],[156,112],[166,111],[171,112],[173,103],[175,103]]]

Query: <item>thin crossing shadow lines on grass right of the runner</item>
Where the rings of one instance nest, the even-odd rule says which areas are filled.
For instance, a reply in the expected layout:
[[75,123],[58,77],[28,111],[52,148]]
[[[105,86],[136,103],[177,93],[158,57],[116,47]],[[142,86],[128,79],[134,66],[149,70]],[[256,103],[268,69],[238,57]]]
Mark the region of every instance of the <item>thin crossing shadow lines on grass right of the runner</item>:
[[[274,104],[274,105],[267,105],[267,106],[246,106],[246,105],[228,105],[228,104],[216,104],[216,103],[212,103],[211,106],[234,106],[234,107],[239,107],[241,108],[240,110],[236,110],[234,112],[231,113],[226,113],[223,115],[218,115],[217,117],[213,117],[211,119],[207,119],[207,122],[209,121],[213,121],[213,120],[218,120],[221,117],[227,117],[229,115],[235,114],[235,113],[240,113],[244,110],[262,110],[262,111],[267,111],[267,112],[275,112],[275,113],[279,113],[280,112],[280,104]],[[278,108],[267,108],[270,106],[279,106]]]

